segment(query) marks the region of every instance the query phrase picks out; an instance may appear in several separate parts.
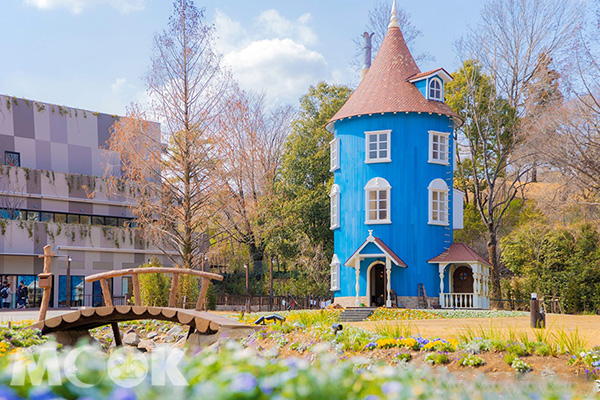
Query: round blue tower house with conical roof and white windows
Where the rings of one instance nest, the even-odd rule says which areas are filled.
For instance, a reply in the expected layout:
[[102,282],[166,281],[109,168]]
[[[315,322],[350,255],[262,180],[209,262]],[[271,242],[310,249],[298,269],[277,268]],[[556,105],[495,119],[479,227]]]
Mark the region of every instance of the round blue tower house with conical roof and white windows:
[[331,289],[344,306],[489,308],[489,263],[461,243],[463,193],[452,187],[452,77],[421,72],[400,31],[388,32],[363,79],[329,121]]

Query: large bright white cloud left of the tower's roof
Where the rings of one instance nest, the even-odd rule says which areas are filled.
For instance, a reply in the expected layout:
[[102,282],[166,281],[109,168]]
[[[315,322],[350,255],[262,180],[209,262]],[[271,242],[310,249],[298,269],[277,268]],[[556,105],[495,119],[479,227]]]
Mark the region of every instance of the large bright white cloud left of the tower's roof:
[[217,47],[242,88],[265,92],[271,103],[296,103],[309,85],[330,75],[310,14],[289,20],[276,10],[261,12],[249,26],[216,12]]

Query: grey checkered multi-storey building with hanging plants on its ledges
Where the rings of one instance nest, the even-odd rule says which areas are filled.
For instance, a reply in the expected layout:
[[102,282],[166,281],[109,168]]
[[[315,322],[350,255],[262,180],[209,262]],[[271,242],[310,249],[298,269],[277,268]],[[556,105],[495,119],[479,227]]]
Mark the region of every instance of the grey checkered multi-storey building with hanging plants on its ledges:
[[[118,118],[0,96],[0,280],[13,293],[23,281],[30,307],[41,299],[38,256],[47,244],[56,253],[51,307],[64,305],[67,295],[72,306],[99,305],[100,285],[85,283],[86,275],[137,267],[153,257],[170,266],[133,229],[127,186],[106,193],[103,176],[120,175],[119,156],[106,147]],[[131,292],[131,278],[116,278],[109,286],[119,304]]]

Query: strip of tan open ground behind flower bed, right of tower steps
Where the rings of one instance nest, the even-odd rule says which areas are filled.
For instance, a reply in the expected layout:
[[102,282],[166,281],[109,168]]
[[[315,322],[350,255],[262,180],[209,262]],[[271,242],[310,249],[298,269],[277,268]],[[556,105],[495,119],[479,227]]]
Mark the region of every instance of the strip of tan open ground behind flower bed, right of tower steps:
[[[412,334],[425,337],[455,338],[469,330],[480,336],[481,330],[501,331],[506,337],[514,332],[517,337],[525,332],[533,339],[534,332],[529,326],[529,316],[508,318],[456,318],[456,319],[430,319],[417,321],[377,321],[347,323],[360,328],[376,330],[380,325],[410,326]],[[579,336],[587,340],[587,347],[600,346],[600,316],[598,315],[559,315],[550,314],[546,317],[547,332],[557,334],[563,330],[567,334],[577,330]]]

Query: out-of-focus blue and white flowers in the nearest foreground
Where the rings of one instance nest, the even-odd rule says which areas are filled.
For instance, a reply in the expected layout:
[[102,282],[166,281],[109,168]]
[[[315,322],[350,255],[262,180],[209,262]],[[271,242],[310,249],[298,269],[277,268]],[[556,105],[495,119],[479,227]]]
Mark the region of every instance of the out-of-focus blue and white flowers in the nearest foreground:
[[[31,381],[11,387],[14,362],[0,361],[0,398],[3,399],[433,399],[433,398],[572,398],[568,388],[551,383],[518,386],[493,383],[484,378],[461,380],[453,375],[437,374],[427,368],[378,366],[365,360],[337,361],[327,347],[313,352],[312,361],[267,359],[251,349],[229,342],[218,352],[204,351],[184,358],[179,369],[187,385],[153,385],[147,376],[132,388],[113,383],[105,359],[83,358],[78,376],[93,387],[82,389],[66,378],[50,386],[47,378],[41,386]],[[445,353],[430,353],[433,363],[444,363]],[[62,365],[65,354],[59,355]],[[147,357],[146,355],[142,357]],[[447,358],[447,356],[446,356]],[[127,363],[123,365],[129,365]],[[123,367],[121,365],[121,367]],[[482,380],[483,379],[483,380]]]

